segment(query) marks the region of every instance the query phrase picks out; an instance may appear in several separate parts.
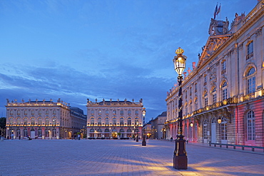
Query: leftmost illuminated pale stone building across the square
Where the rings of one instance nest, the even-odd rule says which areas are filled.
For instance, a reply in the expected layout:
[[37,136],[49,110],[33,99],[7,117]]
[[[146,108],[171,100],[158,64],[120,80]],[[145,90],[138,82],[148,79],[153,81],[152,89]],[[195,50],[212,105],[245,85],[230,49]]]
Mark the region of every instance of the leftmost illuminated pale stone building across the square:
[[[74,124],[70,104],[59,98],[25,102],[6,102],[6,138],[36,139],[71,138]],[[76,124],[77,125],[77,124]],[[82,124],[83,125],[83,124]],[[78,129],[79,131],[80,129]]]

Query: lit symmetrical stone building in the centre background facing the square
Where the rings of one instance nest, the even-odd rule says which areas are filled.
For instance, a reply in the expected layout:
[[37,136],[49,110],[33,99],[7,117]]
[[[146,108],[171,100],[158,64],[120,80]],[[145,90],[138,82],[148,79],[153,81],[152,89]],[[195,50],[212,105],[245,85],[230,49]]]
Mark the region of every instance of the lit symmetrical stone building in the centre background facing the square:
[[87,99],[88,138],[138,138],[142,135],[143,100],[109,100],[91,102]]

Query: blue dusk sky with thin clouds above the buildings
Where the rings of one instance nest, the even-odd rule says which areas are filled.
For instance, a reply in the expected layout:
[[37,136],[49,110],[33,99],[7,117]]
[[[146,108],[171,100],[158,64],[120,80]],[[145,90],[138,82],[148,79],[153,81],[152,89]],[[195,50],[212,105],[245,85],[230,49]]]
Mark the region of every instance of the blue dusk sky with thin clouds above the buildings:
[[0,1],[0,113],[9,100],[61,98],[86,113],[86,99],[143,98],[146,121],[166,111],[183,48],[198,63],[216,19],[248,14],[257,0]]

